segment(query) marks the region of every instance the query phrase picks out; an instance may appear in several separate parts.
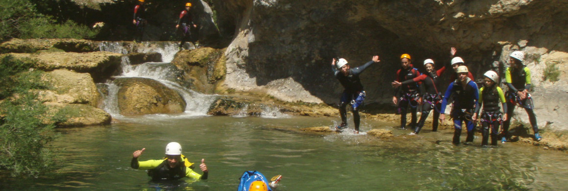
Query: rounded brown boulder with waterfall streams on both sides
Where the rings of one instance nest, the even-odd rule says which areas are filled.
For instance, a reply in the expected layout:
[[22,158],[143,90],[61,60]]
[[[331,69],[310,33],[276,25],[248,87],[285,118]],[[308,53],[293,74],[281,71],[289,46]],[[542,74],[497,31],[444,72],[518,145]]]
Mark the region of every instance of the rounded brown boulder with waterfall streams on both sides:
[[176,114],[185,100],[175,91],[149,78],[118,78],[118,107],[122,115]]

